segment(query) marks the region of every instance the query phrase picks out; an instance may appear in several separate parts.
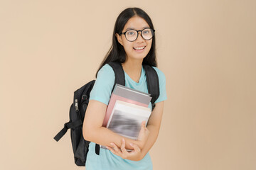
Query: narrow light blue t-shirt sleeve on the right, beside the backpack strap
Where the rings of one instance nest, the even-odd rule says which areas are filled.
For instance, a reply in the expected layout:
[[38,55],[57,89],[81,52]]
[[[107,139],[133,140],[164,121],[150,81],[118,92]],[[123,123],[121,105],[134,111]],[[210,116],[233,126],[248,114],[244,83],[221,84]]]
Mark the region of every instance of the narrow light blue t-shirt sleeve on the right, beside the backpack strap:
[[166,77],[163,72],[161,72],[160,69],[157,67],[153,67],[156,70],[156,73],[159,77],[159,98],[155,101],[155,103],[159,103],[161,101],[165,101],[167,99],[167,94],[166,94]]

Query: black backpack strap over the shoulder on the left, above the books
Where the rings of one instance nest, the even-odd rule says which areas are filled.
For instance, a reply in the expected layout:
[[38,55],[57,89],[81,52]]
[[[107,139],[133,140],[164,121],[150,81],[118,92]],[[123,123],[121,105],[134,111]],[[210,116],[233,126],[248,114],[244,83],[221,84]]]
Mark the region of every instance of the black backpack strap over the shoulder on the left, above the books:
[[[115,84],[121,84],[125,86],[125,79],[124,79],[124,69],[122,68],[122,64],[120,62],[109,62],[107,63],[112,67],[114,70],[114,86]],[[114,86],[112,88],[112,92],[114,90]]]

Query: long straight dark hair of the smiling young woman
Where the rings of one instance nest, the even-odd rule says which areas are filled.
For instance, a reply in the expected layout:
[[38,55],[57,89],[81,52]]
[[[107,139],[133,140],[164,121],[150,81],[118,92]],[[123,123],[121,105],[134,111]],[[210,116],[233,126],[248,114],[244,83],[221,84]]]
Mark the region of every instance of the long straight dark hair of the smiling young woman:
[[[129,20],[129,18],[132,18],[133,16],[139,16],[141,18],[144,18],[146,23],[149,24],[149,27],[151,29],[154,29],[153,23],[151,21],[151,18],[149,15],[143,11],[141,8],[126,8],[122,13],[119,14],[117,17],[117,21],[114,24],[114,32],[112,36],[112,46],[110,47],[110,50],[107,52],[107,55],[105,56],[105,59],[100,64],[99,69],[97,70],[97,73],[99,70],[107,63],[109,62],[125,62],[126,55],[124,51],[124,47],[119,44],[115,34],[118,33],[119,35],[122,33],[122,30],[124,29],[125,24]],[[152,44],[151,49],[149,50],[149,53],[144,57],[144,60],[142,64],[148,64],[150,66],[156,67],[156,38],[155,35],[152,38]],[[96,77],[97,77],[96,73]]]

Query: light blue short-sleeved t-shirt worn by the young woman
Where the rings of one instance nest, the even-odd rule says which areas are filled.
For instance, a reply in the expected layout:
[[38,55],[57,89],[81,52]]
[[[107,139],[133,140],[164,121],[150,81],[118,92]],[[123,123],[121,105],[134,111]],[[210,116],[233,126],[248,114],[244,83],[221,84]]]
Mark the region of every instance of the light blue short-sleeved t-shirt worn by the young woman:
[[[155,103],[159,103],[160,101],[165,101],[167,99],[166,96],[166,78],[164,73],[161,72],[158,68],[153,67],[156,70],[156,73],[159,76],[159,88],[160,94],[159,98],[157,98]],[[133,81],[129,75],[124,72],[125,77],[125,86],[128,86],[132,89],[137,89],[139,91],[143,91],[148,93],[147,85],[146,85],[146,74],[142,67],[142,74],[139,79],[139,83]],[[110,96],[112,92],[112,88],[114,86],[114,71],[109,64],[105,64],[97,74],[97,79],[95,81],[95,85],[93,86],[92,91],[90,92],[90,100],[100,101],[108,105],[110,101]],[[151,108],[151,103],[149,104],[149,108]],[[86,170],[151,170],[153,169],[151,158],[149,153],[146,156],[138,161],[134,162],[128,159],[122,159],[115,154],[112,154],[108,149],[100,149],[100,155],[95,154],[95,143],[90,142],[89,151],[87,154],[87,161],[85,164]]]

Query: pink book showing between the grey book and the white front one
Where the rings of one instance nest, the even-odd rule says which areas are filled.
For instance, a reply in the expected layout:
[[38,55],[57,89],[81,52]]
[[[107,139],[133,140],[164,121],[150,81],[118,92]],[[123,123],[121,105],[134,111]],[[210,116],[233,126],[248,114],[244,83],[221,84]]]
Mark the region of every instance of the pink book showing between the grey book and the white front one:
[[105,115],[105,118],[103,120],[103,125],[104,127],[107,126],[107,122],[108,120],[110,119],[110,115],[112,113],[112,110],[114,108],[114,103],[119,100],[119,101],[125,101],[127,103],[133,103],[133,104],[137,104],[139,106],[144,106],[144,107],[148,107],[148,105],[144,104],[144,103],[140,103],[138,101],[133,101],[133,100],[130,100],[128,98],[124,98],[124,97],[121,97],[121,96],[117,96],[116,94],[112,94],[111,95],[111,98],[110,98],[110,103],[109,105],[107,106],[107,111],[106,111],[106,115]]

